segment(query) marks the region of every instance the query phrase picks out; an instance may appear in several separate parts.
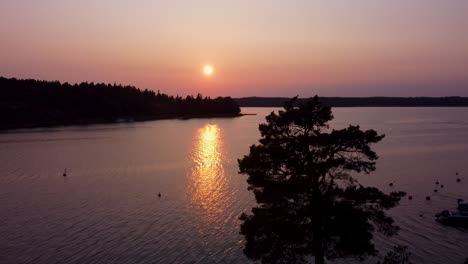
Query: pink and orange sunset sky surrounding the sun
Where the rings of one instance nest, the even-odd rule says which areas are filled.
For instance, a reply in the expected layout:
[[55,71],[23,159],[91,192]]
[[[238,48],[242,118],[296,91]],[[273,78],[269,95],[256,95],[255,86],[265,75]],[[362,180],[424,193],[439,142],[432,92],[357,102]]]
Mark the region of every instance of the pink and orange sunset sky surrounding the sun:
[[468,96],[468,1],[1,0],[0,76],[171,95]]

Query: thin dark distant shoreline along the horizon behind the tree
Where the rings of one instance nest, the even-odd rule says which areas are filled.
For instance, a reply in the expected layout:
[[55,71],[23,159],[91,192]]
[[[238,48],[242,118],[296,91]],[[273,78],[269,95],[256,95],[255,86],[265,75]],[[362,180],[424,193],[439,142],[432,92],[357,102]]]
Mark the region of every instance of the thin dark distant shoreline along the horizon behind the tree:
[[[240,107],[282,107],[287,97],[234,98]],[[298,102],[308,98],[299,98]],[[331,107],[468,107],[468,97],[320,97]]]

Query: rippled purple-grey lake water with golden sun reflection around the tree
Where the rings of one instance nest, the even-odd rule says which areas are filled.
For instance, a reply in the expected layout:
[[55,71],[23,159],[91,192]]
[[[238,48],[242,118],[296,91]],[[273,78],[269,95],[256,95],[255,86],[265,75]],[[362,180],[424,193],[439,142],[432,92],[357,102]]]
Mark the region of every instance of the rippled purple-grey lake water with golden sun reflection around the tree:
[[[273,110],[1,133],[0,263],[247,262],[237,218],[254,198],[236,160]],[[336,108],[334,115],[334,127],[386,134],[376,145],[377,171],[360,182],[414,197],[391,211],[402,230],[390,240],[377,236],[379,249],[403,244],[415,263],[462,263],[468,230],[433,215],[468,199],[468,108]],[[436,180],[445,185],[438,193]]]

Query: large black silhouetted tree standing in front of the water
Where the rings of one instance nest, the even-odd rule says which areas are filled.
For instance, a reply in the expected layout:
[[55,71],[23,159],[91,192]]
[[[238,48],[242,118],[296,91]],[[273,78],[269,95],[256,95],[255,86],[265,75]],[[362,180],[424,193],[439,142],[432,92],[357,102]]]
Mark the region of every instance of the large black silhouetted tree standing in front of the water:
[[401,192],[384,194],[357,184],[350,173],[375,170],[370,145],[384,136],[359,126],[330,130],[330,107],[318,97],[261,124],[259,144],[238,160],[247,174],[257,207],[242,214],[244,253],[263,263],[315,263],[377,251],[373,231],[393,235],[398,227],[384,210],[396,206]]

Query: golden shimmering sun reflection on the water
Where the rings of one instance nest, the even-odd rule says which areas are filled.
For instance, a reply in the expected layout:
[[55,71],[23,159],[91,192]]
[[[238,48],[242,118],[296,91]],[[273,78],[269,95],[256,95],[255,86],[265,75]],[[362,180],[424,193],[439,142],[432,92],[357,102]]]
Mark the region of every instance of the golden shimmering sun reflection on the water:
[[202,210],[205,220],[216,222],[225,209],[226,176],[223,167],[223,141],[218,125],[208,124],[195,136],[193,167],[189,179],[190,201]]

